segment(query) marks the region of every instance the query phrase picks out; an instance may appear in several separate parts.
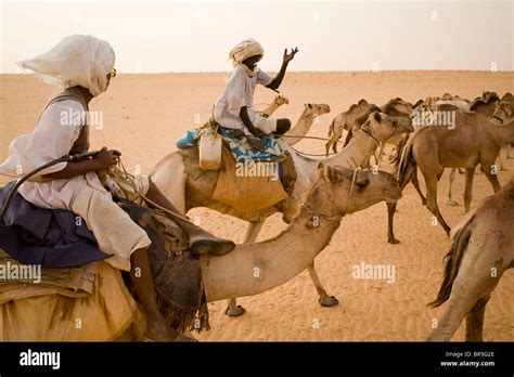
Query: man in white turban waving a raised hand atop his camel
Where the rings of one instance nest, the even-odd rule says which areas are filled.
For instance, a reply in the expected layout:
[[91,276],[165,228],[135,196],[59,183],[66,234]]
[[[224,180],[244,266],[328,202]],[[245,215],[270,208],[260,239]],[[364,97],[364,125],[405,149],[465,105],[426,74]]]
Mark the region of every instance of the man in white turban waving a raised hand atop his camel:
[[298,49],[287,53],[284,51],[282,67],[273,79],[257,67],[264,56],[264,49],[259,42],[249,38],[235,46],[230,51],[229,60],[234,69],[230,75],[227,87],[216,101],[214,109],[215,120],[222,127],[243,130],[247,136],[253,134],[264,138],[266,134],[284,134],[291,128],[290,119],[266,118],[253,108],[256,83],[277,90],[285,75],[287,64],[294,58]]

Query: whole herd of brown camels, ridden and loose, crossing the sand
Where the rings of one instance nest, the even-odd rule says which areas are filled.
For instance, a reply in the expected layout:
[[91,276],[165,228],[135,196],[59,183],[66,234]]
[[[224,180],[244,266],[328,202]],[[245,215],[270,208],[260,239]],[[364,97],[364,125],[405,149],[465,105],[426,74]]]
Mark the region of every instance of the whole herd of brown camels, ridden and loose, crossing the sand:
[[[247,249],[246,252],[237,252],[236,249],[236,252],[222,258],[204,257],[202,264],[207,299],[228,299],[226,314],[237,316],[245,311],[236,304],[237,297],[271,289],[305,268],[317,288],[319,302],[324,307],[338,303],[321,285],[314,269],[314,257],[327,245],[340,217],[346,213],[340,206],[346,205],[351,185],[358,187],[352,194],[358,196],[351,198],[349,211],[385,200],[388,207],[388,242],[397,244],[399,240],[393,231],[394,214],[401,191],[409,182],[415,186],[423,205],[450,234],[450,226],[437,206],[437,182],[445,168],[454,171],[465,169],[464,207],[468,212],[473,177],[476,166],[480,165],[496,195],[468,212],[453,229],[441,292],[434,302],[438,306],[449,300],[448,309],[431,340],[449,340],[465,315],[466,339],[481,340],[484,311],[490,292],[501,274],[514,266],[514,231],[509,227],[509,221],[501,221],[514,214],[514,183],[501,191],[496,165],[501,148],[509,148],[509,144],[514,143],[513,101],[511,93],[500,99],[491,92],[484,92],[474,101],[448,93],[440,99],[426,99],[415,104],[397,98],[381,107],[360,100],[333,119],[325,145],[326,155],[330,150],[333,155],[321,160],[305,157],[292,147],[307,134],[316,116],[330,112],[330,106],[325,104],[306,104],[296,126],[281,141],[281,145],[292,154],[298,174],[293,194],[288,199],[256,212],[239,212],[213,199],[219,172],[200,169],[196,148],[180,150],[166,156],[155,167],[151,178],[184,213],[191,208],[207,207],[248,222],[245,244],[239,246]],[[286,103],[286,99],[277,96],[264,114],[270,116]],[[416,109],[433,112],[433,115],[452,112],[452,123],[437,125],[444,127],[416,125],[413,122]],[[343,148],[338,151],[344,132],[347,134]],[[356,170],[370,168],[373,156],[375,164],[380,165],[384,144],[393,146],[389,161],[394,164],[396,178],[384,172],[373,174],[372,170]],[[424,177],[426,198],[420,188],[417,168]],[[175,173],[171,176],[170,171]],[[357,172],[354,181],[350,179],[352,171]],[[383,183],[382,186],[377,185],[378,182]],[[382,192],[382,197],[378,192]],[[357,205],[354,200],[362,203]],[[281,212],[283,221],[290,224],[287,230],[273,239],[255,243],[266,219],[275,212]],[[318,226],[311,226],[313,216],[321,219]],[[307,235],[309,232],[311,236]],[[488,232],[498,234],[499,238],[487,238]],[[299,238],[303,239],[301,247],[296,245]],[[471,262],[476,260],[483,260],[484,264]],[[250,273],[256,266],[262,273],[257,281]],[[488,280],[486,272],[492,268],[496,275]],[[474,276],[481,278],[475,280]]]

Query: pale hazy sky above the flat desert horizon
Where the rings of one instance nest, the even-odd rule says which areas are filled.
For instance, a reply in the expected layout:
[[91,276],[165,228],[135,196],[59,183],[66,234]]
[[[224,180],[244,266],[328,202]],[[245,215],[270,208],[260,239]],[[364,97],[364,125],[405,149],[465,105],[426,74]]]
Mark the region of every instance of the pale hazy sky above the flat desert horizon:
[[229,70],[253,37],[259,65],[291,70],[513,70],[514,1],[9,1],[0,0],[0,72],[64,36],[110,41],[119,72]]

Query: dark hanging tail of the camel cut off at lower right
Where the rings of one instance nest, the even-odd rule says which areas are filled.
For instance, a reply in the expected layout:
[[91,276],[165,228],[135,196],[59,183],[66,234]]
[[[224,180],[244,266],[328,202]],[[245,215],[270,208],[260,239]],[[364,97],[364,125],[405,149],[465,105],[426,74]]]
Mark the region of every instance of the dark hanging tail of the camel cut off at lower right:
[[467,248],[467,243],[470,242],[471,230],[468,224],[471,223],[472,219],[473,217],[466,219],[465,223],[460,225],[457,232],[452,234],[450,251],[445,257],[445,273],[442,276],[441,286],[439,288],[439,294],[434,301],[428,303],[429,308],[437,308],[450,298],[453,282],[455,281],[455,277],[459,273],[462,257],[464,256],[464,251]]

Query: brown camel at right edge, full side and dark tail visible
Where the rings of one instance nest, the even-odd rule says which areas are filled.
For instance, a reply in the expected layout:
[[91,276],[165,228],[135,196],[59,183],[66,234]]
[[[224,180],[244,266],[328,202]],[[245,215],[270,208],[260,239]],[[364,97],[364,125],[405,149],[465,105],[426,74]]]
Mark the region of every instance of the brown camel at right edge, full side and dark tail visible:
[[[489,180],[494,193],[500,190],[500,182],[492,166],[502,145],[514,142],[514,121],[505,126],[491,125],[490,120],[475,113],[455,114],[453,129],[444,126],[426,126],[419,129],[407,143],[400,161],[398,181],[400,187],[410,182],[420,167],[426,184],[426,207],[436,217],[449,234],[450,226],[442,219],[437,206],[437,182],[445,168],[465,168],[465,212],[472,200],[475,167],[480,164],[481,171]],[[396,203],[388,203],[388,242],[398,244],[393,231],[393,219]]]

